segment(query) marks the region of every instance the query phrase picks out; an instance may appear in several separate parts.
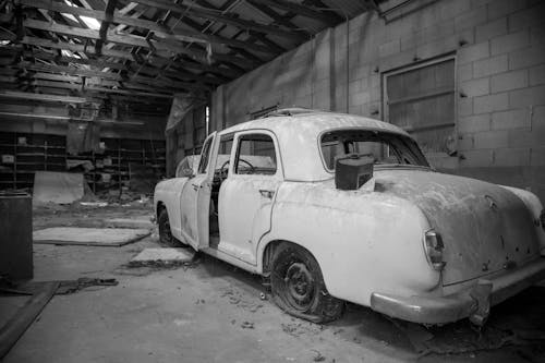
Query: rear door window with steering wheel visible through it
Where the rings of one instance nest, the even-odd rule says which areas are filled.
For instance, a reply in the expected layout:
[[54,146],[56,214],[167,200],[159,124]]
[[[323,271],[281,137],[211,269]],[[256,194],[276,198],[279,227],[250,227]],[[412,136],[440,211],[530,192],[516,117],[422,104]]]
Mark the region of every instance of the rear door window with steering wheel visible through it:
[[275,142],[269,135],[249,134],[240,137],[234,173],[274,176],[276,169]]

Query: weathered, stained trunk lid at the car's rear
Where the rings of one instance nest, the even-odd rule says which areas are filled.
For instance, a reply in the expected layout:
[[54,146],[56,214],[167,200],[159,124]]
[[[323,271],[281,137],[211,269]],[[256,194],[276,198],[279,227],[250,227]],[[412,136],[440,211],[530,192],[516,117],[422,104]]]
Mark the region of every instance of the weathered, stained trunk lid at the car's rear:
[[440,233],[445,286],[511,268],[540,254],[531,211],[505,187],[427,170],[375,170],[374,180],[375,192],[412,202]]

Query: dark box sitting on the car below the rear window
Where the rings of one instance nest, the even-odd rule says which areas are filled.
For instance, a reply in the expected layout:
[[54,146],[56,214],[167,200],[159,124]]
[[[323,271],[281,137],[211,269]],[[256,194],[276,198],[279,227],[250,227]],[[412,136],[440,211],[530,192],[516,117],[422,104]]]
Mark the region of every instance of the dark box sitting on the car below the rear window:
[[373,178],[374,159],[370,156],[351,155],[335,161],[335,186],[342,191],[355,191]]

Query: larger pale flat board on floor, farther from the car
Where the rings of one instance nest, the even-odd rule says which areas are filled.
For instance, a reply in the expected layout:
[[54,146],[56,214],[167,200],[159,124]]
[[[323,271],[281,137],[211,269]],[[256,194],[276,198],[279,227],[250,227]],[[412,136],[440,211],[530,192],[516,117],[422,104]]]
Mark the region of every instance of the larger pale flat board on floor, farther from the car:
[[55,227],[33,233],[34,243],[120,246],[149,235],[148,229]]

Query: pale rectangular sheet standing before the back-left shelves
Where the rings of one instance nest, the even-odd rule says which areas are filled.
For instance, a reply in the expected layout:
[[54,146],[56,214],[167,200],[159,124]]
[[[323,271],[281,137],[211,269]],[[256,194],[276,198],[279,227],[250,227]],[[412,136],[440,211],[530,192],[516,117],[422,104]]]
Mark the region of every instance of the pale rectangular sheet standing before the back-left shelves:
[[33,204],[70,204],[84,195],[82,173],[36,171],[34,174]]

